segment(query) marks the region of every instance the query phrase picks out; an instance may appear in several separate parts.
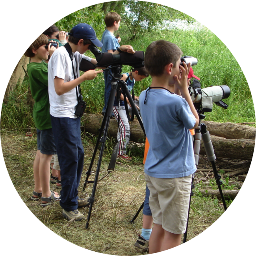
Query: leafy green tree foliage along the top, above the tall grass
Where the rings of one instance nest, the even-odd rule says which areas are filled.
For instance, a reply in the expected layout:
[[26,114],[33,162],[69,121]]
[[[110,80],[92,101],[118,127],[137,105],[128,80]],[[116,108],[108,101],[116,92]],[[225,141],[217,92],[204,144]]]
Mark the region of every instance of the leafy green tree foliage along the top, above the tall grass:
[[119,33],[128,37],[129,40],[152,32],[157,27],[163,26],[166,21],[195,21],[193,17],[186,13],[163,4],[148,1],[118,0],[83,7],[56,21],[55,24],[60,30],[70,31],[76,24],[85,22],[95,29],[96,35],[101,35],[105,28],[104,17],[110,11],[115,11],[121,16]]

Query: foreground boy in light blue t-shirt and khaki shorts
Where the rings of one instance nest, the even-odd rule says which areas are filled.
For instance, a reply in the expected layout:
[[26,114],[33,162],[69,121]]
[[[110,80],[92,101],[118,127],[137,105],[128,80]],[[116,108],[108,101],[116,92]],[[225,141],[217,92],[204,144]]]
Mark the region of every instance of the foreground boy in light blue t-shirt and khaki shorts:
[[[187,88],[190,64],[181,63],[181,56],[177,45],[164,40],[151,43],[145,52],[145,68],[152,83],[139,96],[139,103],[150,144],[145,162],[154,220],[150,254],[180,245],[196,171],[189,129],[198,126],[199,117]],[[176,94],[171,92],[172,85]]]

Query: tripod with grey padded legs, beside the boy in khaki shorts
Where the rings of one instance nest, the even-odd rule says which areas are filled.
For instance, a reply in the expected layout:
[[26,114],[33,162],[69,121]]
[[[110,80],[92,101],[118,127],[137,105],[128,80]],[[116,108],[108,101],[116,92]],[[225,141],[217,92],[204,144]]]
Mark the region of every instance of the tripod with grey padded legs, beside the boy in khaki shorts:
[[[219,192],[220,192],[220,195],[221,195],[221,200],[223,202],[224,210],[226,211],[227,210],[226,202],[225,202],[225,199],[224,199],[224,196],[223,196],[223,193],[222,193],[222,189],[221,189],[221,185],[223,183],[221,181],[221,176],[217,173],[217,168],[216,168],[216,165],[215,165],[216,156],[214,154],[213,145],[211,143],[210,133],[207,131],[206,125],[201,123],[201,120],[205,118],[205,115],[203,115],[203,113],[200,113],[200,110],[199,110],[198,115],[199,115],[199,124],[198,124],[197,128],[195,129],[195,135],[194,135],[195,162],[196,162],[196,165],[198,165],[199,152],[200,152],[200,140],[201,140],[201,137],[202,137],[202,140],[204,142],[206,155],[207,155],[207,159],[208,159],[208,161],[211,162],[211,166],[212,166],[212,169],[213,169],[213,174],[214,174],[217,186],[219,188]],[[190,210],[190,204],[191,204],[191,196],[193,196],[192,189],[195,188],[193,182],[194,182],[194,174],[192,176],[192,182],[191,182],[191,193],[190,193],[190,198],[189,198],[189,210]],[[142,203],[141,207],[139,208],[137,213],[134,215],[134,217],[130,221],[130,223],[134,223],[134,221],[137,218],[137,216],[139,215],[140,211],[143,209],[143,205],[144,205],[144,202]],[[186,227],[186,232],[184,233],[183,243],[186,243],[186,239],[187,239],[189,210],[188,210],[188,215],[187,215],[187,227]]]

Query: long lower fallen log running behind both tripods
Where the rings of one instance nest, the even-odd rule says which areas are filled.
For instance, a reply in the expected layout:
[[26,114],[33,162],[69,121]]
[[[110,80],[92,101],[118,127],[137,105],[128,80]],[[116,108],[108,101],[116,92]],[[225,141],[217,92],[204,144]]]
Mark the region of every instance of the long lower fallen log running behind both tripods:
[[[81,119],[81,130],[90,134],[98,134],[103,120],[102,115],[85,114]],[[143,142],[145,135],[137,119],[130,124],[131,137],[130,141]],[[108,136],[117,136],[117,121],[110,119]],[[215,156],[218,158],[232,158],[241,160],[252,160],[255,148],[255,140],[253,139],[225,139],[211,135]],[[206,154],[204,143],[201,140],[200,154]]]

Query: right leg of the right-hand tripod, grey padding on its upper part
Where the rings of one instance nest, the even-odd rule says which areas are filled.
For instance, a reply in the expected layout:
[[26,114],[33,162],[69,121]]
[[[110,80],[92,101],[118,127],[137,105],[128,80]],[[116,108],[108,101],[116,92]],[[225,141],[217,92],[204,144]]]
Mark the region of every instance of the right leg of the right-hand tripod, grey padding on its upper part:
[[213,149],[213,146],[212,146],[212,143],[211,143],[210,134],[206,130],[206,125],[205,124],[202,124],[202,126],[201,126],[201,133],[202,133],[202,139],[203,139],[203,142],[204,142],[204,148],[205,148],[205,151],[206,151],[207,159],[208,159],[208,161],[211,162],[214,177],[215,177],[217,186],[219,188],[219,193],[221,195],[221,200],[223,202],[224,210],[226,211],[227,210],[226,202],[225,202],[225,199],[224,199],[224,196],[223,196],[223,193],[222,193],[222,189],[221,189],[221,185],[222,185],[221,176],[217,172],[217,168],[216,168],[216,165],[215,165],[216,156],[214,154],[214,149]]

